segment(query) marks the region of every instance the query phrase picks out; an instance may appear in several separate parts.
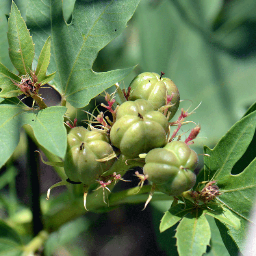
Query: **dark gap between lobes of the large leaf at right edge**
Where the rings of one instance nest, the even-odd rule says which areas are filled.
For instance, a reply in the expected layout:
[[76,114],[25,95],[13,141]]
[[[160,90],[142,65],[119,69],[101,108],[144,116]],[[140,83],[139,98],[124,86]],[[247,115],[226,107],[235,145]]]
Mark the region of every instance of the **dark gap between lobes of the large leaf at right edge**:
[[232,168],[231,174],[236,175],[241,173],[254,158],[256,157],[256,131],[254,132],[252,141],[249,144],[249,147],[243,154],[243,156],[235,163]]

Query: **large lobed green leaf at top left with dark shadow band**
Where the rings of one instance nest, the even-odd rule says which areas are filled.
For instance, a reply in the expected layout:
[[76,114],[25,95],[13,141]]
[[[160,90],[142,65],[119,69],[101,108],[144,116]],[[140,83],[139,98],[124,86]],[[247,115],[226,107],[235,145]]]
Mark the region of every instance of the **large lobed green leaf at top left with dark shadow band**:
[[[96,73],[93,62],[99,52],[126,28],[139,0],[76,1],[72,22],[63,19],[60,0],[28,0],[27,25],[33,32],[36,53],[51,34],[49,72],[56,72],[52,86],[72,106],[82,108],[134,67]],[[37,59],[38,56],[35,56]]]

